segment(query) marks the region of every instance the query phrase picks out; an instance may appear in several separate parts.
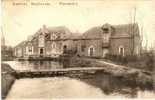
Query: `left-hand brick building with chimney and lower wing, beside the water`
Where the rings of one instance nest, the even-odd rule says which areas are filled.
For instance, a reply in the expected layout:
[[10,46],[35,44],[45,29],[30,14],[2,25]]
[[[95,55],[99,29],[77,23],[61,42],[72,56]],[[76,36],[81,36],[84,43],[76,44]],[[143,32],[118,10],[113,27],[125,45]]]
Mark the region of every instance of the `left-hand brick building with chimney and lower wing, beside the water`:
[[15,47],[15,56],[57,56],[67,51],[74,51],[76,45],[73,45],[72,37],[74,35],[64,26],[43,26]]

